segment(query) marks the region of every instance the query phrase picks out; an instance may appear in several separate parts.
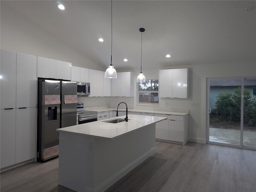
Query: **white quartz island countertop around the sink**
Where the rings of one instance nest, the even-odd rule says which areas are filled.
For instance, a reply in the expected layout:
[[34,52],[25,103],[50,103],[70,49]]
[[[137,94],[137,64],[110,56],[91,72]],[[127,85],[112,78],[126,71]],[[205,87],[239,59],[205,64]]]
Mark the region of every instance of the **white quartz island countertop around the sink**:
[[90,137],[102,137],[105,139],[114,139],[122,135],[128,134],[131,131],[135,131],[136,129],[140,129],[152,123],[156,123],[166,119],[164,117],[156,117],[156,116],[129,115],[128,122],[126,121],[122,121],[120,123],[104,122],[104,121],[113,120],[116,118],[124,119],[125,116],[64,127],[64,128],[56,129],[56,131],[82,134]]

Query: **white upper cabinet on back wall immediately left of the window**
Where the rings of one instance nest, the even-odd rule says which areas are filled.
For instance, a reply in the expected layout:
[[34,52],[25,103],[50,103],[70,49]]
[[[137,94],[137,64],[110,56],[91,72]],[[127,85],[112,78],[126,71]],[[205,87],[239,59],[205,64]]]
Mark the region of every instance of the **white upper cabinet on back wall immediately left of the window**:
[[118,72],[112,79],[112,96],[134,97],[134,72]]

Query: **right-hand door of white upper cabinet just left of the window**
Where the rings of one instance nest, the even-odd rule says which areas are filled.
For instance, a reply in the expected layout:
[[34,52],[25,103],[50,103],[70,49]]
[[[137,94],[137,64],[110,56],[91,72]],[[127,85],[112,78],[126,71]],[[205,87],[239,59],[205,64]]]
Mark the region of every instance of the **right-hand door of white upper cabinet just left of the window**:
[[121,72],[122,97],[134,97],[134,72]]

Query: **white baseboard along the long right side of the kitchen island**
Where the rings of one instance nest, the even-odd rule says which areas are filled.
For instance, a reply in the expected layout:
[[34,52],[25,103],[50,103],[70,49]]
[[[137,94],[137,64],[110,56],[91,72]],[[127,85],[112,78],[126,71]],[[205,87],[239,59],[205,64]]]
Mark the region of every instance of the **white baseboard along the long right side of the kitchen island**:
[[111,178],[106,180],[101,186],[98,186],[95,191],[100,192],[100,191],[105,191],[107,190],[110,186],[112,186],[115,182],[117,182],[120,178],[125,176],[128,172],[130,172],[132,169],[140,165],[143,161],[145,161],[148,157],[153,155],[156,152],[156,147],[153,147],[150,149],[148,152],[144,153],[142,156],[140,156],[138,159],[124,167],[122,170],[114,174]]

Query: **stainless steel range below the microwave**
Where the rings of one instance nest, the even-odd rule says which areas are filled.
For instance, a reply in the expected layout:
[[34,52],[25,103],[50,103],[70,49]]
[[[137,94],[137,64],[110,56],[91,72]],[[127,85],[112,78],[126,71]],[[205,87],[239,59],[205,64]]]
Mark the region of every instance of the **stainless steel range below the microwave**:
[[78,114],[78,124],[89,123],[92,121],[97,121],[98,112],[96,111],[84,111],[84,104],[77,103],[77,114]]

